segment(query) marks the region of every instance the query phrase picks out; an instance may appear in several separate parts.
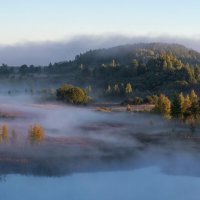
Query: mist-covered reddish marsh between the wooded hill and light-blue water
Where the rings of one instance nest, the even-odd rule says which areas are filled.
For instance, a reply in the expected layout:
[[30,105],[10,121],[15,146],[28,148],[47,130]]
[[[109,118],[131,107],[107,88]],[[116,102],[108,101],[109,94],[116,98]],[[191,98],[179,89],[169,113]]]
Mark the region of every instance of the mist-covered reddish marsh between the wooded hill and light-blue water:
[[[84,107],[22,100],[13,104],[5,98],[2,102],[2,111],[10,115],[1,117],[0,123],[6,122],[18,135],[15,143],[0,145],[2,176],[65,176],[146,166],[158,166],[166,174],[199,176],[200,138],[191,136],[189,128],[179,122],[145,112],[98,112],[96,104]],[[27,130],[36,122],[42,124],[46,136],[40,144],[31,145]],[[184,153],[195,163],[189,165],[192,173],[187,171],[188,163],[185,167],[176,162]]]

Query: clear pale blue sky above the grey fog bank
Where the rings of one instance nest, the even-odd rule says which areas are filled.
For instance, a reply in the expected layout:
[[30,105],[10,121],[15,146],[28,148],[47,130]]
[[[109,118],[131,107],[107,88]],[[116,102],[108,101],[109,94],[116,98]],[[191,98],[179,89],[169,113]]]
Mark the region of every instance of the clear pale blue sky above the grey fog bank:
[[198,0],[6,0],[0,44],[91,34],[200,38],[199,8]]

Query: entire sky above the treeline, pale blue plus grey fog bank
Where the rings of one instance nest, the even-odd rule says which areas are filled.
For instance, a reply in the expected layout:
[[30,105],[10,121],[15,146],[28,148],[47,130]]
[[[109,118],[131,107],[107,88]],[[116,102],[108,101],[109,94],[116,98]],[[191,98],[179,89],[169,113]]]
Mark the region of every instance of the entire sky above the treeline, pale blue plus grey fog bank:
[[200,51],[199,0],[0,0],[0,64],[46,65],[138,42]]

